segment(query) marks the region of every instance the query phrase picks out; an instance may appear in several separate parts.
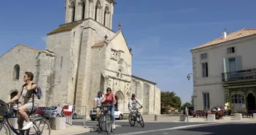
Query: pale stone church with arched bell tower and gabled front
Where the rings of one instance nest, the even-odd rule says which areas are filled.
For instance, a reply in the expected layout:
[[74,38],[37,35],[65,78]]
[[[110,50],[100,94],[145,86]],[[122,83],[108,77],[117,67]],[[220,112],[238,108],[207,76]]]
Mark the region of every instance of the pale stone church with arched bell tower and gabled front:
[[43,90],[40,106],[70,103],[86,106],[88,115],[97,91],[111,87],[120,111],[128,112],[128,99],[135,93],[144,106],[141,112],[160,114],[160,89],[132,75],[132,49],[121,28],[112,30],[116,2],[65,2],[65,23],[47,34],[45,50],[17,44],[0,57],[0,98],[14,97],[30,71]]

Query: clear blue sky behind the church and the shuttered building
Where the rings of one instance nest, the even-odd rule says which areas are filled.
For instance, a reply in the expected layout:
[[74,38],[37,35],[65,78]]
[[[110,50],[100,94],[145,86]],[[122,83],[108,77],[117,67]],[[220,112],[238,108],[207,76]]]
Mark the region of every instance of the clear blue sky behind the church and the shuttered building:
[[[133,75],[158,83],[190,101],[193,80],[190,48],[233,32],[256,27],[256,1],[116,0],[113,30],[122,30],[133,48]],[[64,0],[3,1],[0,55],[16,44],[44,49],[45,37],[64,23]]]

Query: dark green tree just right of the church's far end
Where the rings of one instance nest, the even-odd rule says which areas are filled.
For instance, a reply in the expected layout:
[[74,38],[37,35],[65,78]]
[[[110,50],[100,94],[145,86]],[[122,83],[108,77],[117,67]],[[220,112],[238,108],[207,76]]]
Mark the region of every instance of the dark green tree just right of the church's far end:
[[176,96],[176,93],[174,93],[173,91],[161,91],[161,112],[166,112],[167,109],[169,109],[167,107],[180,109],[180,106],[181,100],[180,97]]

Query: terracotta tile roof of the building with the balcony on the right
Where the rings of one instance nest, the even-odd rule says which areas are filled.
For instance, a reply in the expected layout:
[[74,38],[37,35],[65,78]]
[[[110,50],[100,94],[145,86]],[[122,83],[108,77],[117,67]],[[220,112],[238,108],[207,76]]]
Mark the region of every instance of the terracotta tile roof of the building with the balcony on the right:
[[248,36],[251,36],[251,35],[255,35],[256,34],[256,28],[252,28],[252,29],[241,29],[241,30],[237,30],[231,34],[227,34],[226,35],[226,38],[222,38],[222,37],[219,37],[213,41],[209,41],[208,43],[205,43],[205,44],[201,44],[195,48],[192,48],[190,51],[193,51],[193,50],[196,50],[196,49],[199,49],[199,48],[205,48],[205,47],[208,47],[208,46],[212,46],[212,45],[215,45],[215,44],[220,44],[220,43],[225,43],[227,41],[233,41],[233,40],[236,40],[236,39],[240,39],[240,38],[243,38],[243,37],[248,37]]

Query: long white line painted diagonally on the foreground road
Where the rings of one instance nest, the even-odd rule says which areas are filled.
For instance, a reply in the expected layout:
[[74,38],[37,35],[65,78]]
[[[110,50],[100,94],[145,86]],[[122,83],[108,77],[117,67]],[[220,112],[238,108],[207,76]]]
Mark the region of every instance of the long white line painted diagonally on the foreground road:
[[166,131],[166,130],[180,130],[180,129],[186,129],[186,128],[189,128],[189,127],[217,125],[217,124],[220,124],[220,123],[206,123],[206,124],[196,124],[196,125],[188,125],[188,126],[177,126],[177,127],[167,128],[167,129],[148,130],[148,131],[140,131],[140,132],[133,132],[133,133],[120,133],[120,134],[116,134],[116,135],[133,135],[133,134],[141,134],[141,133]]

